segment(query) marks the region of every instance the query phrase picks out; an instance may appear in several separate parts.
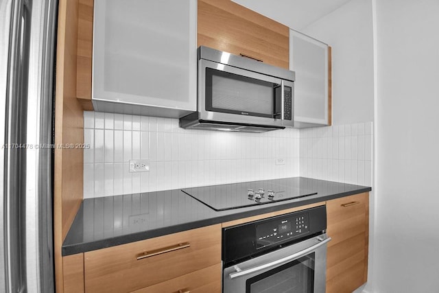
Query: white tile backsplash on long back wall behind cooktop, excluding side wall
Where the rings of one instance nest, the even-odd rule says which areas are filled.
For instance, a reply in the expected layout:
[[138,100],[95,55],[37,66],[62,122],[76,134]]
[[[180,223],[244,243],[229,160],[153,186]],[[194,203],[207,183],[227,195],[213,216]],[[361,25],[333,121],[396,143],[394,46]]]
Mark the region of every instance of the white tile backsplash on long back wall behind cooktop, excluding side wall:
[[[178,119],[93,111],[84,112],[84,143],[84,198],[299,176],[302,150],[296,129],[185,130]],[[128,172],[132,159],[149,159],[150,172]]]

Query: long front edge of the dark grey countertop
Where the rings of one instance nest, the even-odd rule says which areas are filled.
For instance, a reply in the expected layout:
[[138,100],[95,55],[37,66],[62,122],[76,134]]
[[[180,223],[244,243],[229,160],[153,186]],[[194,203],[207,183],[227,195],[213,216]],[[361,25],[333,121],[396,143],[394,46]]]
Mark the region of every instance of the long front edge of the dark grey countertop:
[[169,235],[171,233],[178,233],[182,231],[188,231],[194,228],[201,228],[204,226],[210,226],[213,224],[220,224],[223,222],[228,222],[232,220],[237,220],[240,218],[247,218],[253,215],[261,215],[263,213],[270,213],[273,211],[281,211],[283,209],[289,209],[294,207],[305,206],[307,204],[313,204],[316,202],[324,202],[327,200],[333,200],[335,198],[343,198],[346,196],[351,196],[354,194],[361,194],[364,192],[371,191],[371,187],[364,187],[360,189],[355,189],[351,191],[344,191],[337,194],[328,194],[325,196],[321,196],[319,198],[305,198],[298,202],[285,202],[285,204],[279,204],[276,206],[261,207],[259,209],[247,210],[247,211],[239,211],[236,209],[236,213],[231,213],[228,215],[219,215],[214,218],[197,220],[194,222],[187,222],[183,224],[177,224],[173,226],[166,226],[163,228],[156,228],[150,231],[141,231],[137,233],[132,233],[128,235],[121,235],[116,237],[110,237],[108,239],[101,239],[95,242],[87,242],[80,244],[71,244],[71,245],[63,245],[62,246],[62,256],[75,255],[78,253],[86,253],[92,250],[98,250],[102,248],[108,248],[112,246],[117,246],[121,244],[128,244],[131,242],[137,242],[145,239],[150,239],[154,237],[159,237],[163,235]]

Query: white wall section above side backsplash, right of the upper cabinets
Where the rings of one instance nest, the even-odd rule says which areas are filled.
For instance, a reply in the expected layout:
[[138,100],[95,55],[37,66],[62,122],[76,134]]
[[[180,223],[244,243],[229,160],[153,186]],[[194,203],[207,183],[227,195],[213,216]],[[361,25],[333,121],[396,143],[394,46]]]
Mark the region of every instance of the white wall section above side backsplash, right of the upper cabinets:
[[352,0],[300,30],[332,47],[333,125],[373,121],[370,0]]

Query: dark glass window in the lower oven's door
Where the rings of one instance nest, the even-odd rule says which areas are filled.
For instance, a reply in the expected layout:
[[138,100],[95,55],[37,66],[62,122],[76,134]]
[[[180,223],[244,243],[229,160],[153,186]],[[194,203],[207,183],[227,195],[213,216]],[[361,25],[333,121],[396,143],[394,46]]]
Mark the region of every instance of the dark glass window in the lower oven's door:
[[246,282],[246,293],[312,293],[315,253],[263,272]]

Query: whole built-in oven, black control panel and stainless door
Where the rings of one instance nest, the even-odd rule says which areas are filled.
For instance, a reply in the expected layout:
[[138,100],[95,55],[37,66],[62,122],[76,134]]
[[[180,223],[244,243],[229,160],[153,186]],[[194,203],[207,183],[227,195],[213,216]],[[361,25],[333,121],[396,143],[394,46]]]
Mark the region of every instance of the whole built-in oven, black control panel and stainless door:
[[224,293],[324,293],[326,207],[223,229]]

